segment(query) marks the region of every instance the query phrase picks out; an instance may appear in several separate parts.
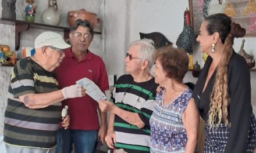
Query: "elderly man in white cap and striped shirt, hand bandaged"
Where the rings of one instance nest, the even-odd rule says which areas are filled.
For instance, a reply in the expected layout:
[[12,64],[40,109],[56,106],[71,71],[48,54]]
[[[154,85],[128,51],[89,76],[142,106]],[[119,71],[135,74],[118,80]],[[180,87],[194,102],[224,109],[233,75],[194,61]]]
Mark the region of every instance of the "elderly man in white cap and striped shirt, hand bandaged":
[[[61,101],[84,96],[72,85],[59,90],[54,72],[70,48],[62,36],[43,32],[35,39],[35,54],[13,67],[5,110],[4,138],[7,152],[55,152],[56,130],[61,122]],[[69,116],[63,118],[69,126]]]

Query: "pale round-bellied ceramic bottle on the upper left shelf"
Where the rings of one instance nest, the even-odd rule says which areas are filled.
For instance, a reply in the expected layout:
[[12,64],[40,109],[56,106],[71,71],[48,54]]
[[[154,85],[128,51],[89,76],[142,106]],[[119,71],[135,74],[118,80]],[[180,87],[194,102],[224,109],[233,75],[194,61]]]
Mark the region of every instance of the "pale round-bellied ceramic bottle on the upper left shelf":
[[61,15],[58,12],[58,5],[56,0],[48,0],[48,8],[42,13],[42,22],[49,25],[59,25],[61,22]]

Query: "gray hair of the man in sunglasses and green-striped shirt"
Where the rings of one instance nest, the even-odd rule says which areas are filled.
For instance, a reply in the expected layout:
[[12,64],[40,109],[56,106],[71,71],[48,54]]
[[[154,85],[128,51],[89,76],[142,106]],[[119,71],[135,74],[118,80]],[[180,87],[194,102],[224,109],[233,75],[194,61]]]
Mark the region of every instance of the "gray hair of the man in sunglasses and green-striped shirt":
[[151,39],[141,39],[130,43],[130,47],[133,45],[140,46],[138,50],[140,58],[148,60],[148,70],[150,70],[154,64],[154,60],[152,59],[152,54],[155,52],[154,41]]

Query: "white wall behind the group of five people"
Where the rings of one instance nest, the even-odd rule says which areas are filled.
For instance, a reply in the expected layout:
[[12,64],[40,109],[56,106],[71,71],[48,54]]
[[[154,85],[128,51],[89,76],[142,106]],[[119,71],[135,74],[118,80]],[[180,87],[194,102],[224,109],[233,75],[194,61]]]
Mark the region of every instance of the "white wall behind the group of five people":
[[[1,3],[2,0],[0,0]],[[76,2],[76,3],[74,3]],[[40,16],[47,1],[35,1],[38,6],[36,22],[41,23]],[[17,19],[23,20],[24,1],[17,1]],[[76,0],[58,1],[59,12],[62,14],[61,26],[67,26],[67,12],[81,8],[98,14],[102,20],[102,35],[95,35],[90,49],[101,56],[106,64],[108,74],[116,74],[118,77],[125,74],[124,59],[131,41],[140,39],[138,32],[161,32],[170,42],[176,43],[176,39],[183,30],[183,12],[189,6],[188,0]],[[0,7],[1,15],[1,7]],[[101,25],[97,27],[101,30]],[[0,24],[0,44],[8,44],[14,50],[14,27]],[[30,29],[21,34],[21,47],[33,46],[35,37],[44,30]],[[103,39],[102,39],[103,38]],[[247,53],[256,55],[255,38],[245,38],[244,49]],[[239,50],[241,39],[235,39],[234,49]],[[201,53],[198,46],[194,49],[194,62],[198,60],[201,66]],[[6,91],[9,82],[9,67],[0,67],[0,136],[2,134],[3,110],[6,107]],[[196,82],[191,72],[188,72],[184,82]],[[256,72],[251,72],[252,103],[256,112]],[[2,152],[0,150],[0,152]]]

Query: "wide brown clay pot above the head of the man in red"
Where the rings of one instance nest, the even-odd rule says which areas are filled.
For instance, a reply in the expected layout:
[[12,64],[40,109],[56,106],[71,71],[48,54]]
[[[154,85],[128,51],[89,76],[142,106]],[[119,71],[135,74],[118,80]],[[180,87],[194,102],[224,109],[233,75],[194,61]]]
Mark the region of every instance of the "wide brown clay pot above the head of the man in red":
[[93,12],[88,12],[85,9],[69,11],[68,16],[70,27],[72,27],[77,19],[88,20],[93,28],[95,27],[95,24],[101,22],[101,20],[97,18],[97,14]]

